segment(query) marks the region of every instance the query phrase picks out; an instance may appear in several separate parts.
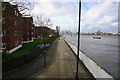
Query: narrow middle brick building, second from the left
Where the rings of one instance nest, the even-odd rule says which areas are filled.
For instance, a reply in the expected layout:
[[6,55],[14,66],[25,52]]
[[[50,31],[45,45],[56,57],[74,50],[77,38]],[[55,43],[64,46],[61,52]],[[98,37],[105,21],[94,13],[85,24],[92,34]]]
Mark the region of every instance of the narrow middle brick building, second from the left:
[[32,42],[34,38],[34,24],[32,17],[23,17],[23,42]]

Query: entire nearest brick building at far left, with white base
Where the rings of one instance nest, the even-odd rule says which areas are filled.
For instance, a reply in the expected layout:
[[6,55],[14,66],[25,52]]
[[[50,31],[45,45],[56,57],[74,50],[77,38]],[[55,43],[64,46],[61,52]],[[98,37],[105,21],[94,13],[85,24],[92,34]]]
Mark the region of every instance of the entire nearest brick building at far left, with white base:
[[22,15],[19,13],[17,5],[2,2],[1,51],[12,53],[22,47],[22,22]]

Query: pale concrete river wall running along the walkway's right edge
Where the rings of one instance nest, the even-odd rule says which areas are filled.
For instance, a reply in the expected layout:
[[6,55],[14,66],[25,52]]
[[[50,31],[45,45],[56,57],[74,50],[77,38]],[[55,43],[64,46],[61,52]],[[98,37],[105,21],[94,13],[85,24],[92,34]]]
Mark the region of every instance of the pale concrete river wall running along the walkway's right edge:
[[[68,41],[66,38],[64,38],[64,40],[75,52],[75,54],[77,54],[77,47],[73,45],[70,41]],[[91,58],[89,58],[86,54],[82,53],[80,50],[79,52],[80,52],[79,55],[80,60],[84,63],[84,65],[91,72],[94,78],[111,78],[112,80],[114,80],[109,73],[107,73],[104,69],[102,69],[101,66],[97,65],[97,63],[94,62]]]

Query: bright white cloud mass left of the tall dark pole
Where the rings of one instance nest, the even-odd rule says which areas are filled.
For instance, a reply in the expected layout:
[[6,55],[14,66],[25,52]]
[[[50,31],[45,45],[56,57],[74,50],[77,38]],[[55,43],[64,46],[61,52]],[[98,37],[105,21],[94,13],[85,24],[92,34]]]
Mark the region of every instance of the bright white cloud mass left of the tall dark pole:
[[77,26],[78,3],[72,2],[38,2],[32,11],[32,15],[44,14],[52,19],[53,26],[60,26],[61,30],[73,30]]

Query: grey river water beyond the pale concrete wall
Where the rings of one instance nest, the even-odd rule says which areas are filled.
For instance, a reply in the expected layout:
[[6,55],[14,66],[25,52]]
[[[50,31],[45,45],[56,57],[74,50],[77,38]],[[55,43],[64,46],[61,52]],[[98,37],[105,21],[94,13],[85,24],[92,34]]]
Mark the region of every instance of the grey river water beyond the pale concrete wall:
[[[77,46],[77,35],[64,35],[70,42]],[[93,59],[109,74],[118,78],[118,39],[120,36],[100,36],[101,39],[93,39],[96,35],[81,35],[80,50]]]

